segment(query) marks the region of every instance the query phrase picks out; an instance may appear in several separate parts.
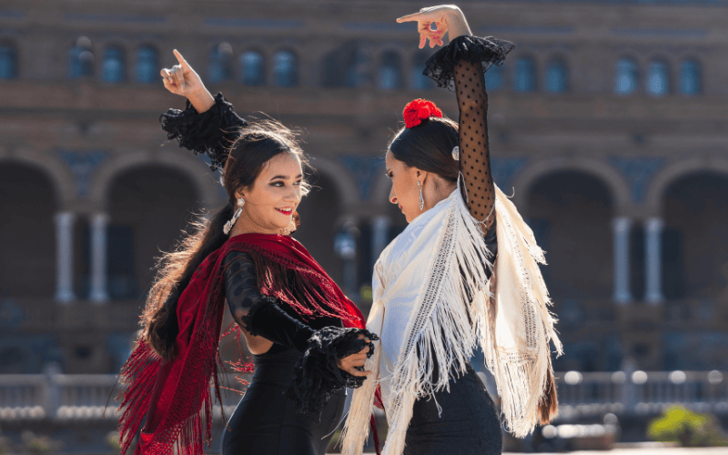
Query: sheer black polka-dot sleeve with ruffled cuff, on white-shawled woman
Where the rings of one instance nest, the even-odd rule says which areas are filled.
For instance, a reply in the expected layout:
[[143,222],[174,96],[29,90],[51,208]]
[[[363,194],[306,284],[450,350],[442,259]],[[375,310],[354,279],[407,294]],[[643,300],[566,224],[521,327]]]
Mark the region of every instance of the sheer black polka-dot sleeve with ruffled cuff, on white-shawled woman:
[[491,65],[502,65],[514,45],[494,38],[459,36],[427,61],[425,74],[439,86],[455,88],[458,96],[460,172],[470,215],[483,221],[483,233],[494,231],[495,189],[490,174],[488,139],[488,93],[483,73]]

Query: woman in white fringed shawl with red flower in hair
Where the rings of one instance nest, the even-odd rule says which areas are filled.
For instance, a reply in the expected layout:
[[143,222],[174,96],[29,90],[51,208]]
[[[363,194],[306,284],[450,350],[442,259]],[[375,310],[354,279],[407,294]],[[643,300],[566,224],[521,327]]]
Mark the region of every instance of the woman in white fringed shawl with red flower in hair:
[[374,374],[354,391],[342,453],[361,453],[378,388],[389,422],[383,454],[501,453],[501,422],[468,359],[480,344],[506,427],[523,437],[556,414],[550,342],[561,353],[543,251],[490,174],[483,73],[514,45],[471,35],[454,5],[398,19],[408,21],[420,48],[450,34],[424,74],[454,88],[460,118],[415,100],[389,143],[389,200],[409,226],[375,266],[367,328],[380,339],[365,367]]

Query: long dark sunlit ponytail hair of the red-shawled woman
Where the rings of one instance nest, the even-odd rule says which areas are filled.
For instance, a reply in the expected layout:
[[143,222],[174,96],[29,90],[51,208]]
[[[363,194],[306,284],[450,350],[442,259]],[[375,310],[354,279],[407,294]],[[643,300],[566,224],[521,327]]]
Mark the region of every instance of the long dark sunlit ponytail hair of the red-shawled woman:
[[[308,159],[298,146],[296,135],[296,132],[272,120],[246,126],[230,148],[223,167],[222,183],[227,190],[227,205],[209,221],[201,219],[193,222],[191,232],[183,236],[177,248],[159,258],[157,277],[149,290],[147,306],[142,314],[142,338],[163,359],[172,359],[175,355],[179,297],[195,269],[227,240],[223,226],[235,211],[236,191],[253,185],[263,166],[282,153],[295,155],[302,165],[308,166]],[[308,192],[305,184],[302,188],[304,194]]]

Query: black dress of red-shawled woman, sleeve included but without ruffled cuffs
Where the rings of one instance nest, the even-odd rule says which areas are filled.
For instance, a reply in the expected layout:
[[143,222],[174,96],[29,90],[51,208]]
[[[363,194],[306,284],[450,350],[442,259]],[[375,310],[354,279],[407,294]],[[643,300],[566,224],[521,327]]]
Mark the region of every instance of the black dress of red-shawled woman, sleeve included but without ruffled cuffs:
[[339,319],[318,318],[304,324],[285,306],[258,292],[255,265],[245,253],[225,259],[227,305],[250,333],[271,341],[265,354],[254,356],[255,373],[223,435],[223,454],[324,455],[344,412],[346,389],[339,389],[319,416],[301,414],[286,391],[294,365],[308,348],[315,329],[341,327]]

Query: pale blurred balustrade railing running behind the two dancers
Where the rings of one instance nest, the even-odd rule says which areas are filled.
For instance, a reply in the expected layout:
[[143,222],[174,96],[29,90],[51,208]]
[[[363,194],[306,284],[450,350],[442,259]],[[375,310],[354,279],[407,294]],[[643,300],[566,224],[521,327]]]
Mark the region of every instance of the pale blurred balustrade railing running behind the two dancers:
[[[569,371],[556,377],[563,420],[606,413],[651,415],[675,404],[728,414],[728,373],[720,371]],[[232,377],[223,382],[230,388],[222,390],[229,416],[240,399],[233,389],[242,387]],[[0,375],[0,421],[96,420],[105,410],[107,419],[116,419],[119,390],[115,375]]]

